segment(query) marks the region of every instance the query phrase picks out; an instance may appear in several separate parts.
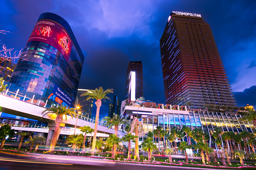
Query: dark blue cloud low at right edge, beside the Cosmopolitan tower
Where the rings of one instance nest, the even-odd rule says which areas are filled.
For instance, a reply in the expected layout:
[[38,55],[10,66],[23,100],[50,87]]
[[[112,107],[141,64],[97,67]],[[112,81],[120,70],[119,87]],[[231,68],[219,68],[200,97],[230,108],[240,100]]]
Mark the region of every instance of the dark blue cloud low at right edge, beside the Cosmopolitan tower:
[[256,108],[256,86],[251,86],[243,92],[234,92],[234,97],[237,100],[237,106],[246,106],[250,104]]

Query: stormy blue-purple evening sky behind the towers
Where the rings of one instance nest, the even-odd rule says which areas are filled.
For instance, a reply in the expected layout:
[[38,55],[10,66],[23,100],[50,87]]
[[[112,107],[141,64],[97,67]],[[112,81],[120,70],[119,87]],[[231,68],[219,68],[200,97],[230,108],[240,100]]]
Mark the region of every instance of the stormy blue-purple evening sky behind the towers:
[[[238,106],[256,107],[254,0],[2,0],[0,39],[20,50],[43,12],[70,25],[85,60],[79,88],[113,88],[124,100],[129,61],[143,63],[146,100],[165,103],[159,40],[172,11],[201,14],[210,24]],[[113,94],[108,95],[113,101]],[[108,114],[108,103],[100,117]],[[95,114],[94,109],[93,114]]]

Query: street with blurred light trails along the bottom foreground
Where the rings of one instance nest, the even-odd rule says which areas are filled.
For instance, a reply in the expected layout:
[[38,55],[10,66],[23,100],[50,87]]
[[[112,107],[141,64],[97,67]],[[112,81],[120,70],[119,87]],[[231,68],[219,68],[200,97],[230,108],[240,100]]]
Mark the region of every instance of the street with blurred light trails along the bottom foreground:
[[181,168],[183,167],[124,164],[76,156],[6,154],[0,151],[0,170],[178,170]]

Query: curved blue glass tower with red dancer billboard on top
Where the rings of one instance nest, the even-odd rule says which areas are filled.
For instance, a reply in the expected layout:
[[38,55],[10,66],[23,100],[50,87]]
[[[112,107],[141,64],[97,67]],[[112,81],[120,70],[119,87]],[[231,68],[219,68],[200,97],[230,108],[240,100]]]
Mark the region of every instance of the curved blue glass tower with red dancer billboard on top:
[[10,83],[29,98],[73,106],[84,56],[68,23],[56,14],[41,14],[23,52]]

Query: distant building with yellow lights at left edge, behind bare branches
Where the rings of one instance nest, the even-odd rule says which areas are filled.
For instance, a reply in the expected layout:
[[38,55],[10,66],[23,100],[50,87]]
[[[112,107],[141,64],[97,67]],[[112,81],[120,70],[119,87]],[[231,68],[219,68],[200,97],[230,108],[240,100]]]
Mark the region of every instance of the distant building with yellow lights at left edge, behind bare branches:
[[3,80],[9,81],[13,70],[16,67],[16,64],[12,61],[4,60],[0,61],[0,77],[3,77]]

